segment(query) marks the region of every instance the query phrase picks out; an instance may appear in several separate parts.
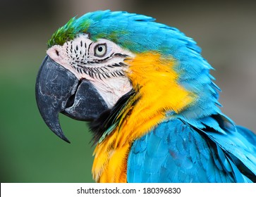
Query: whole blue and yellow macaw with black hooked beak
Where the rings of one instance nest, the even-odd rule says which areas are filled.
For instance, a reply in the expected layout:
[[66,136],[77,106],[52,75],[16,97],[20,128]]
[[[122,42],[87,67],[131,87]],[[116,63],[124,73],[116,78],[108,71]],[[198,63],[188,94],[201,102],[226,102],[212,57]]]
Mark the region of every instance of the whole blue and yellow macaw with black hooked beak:
[[200,53],[145,15],[72,18],[49,39],[39,111],[65,141],[59,113],[90,121],[96,182],[256,182],[256,135],[221,113]]

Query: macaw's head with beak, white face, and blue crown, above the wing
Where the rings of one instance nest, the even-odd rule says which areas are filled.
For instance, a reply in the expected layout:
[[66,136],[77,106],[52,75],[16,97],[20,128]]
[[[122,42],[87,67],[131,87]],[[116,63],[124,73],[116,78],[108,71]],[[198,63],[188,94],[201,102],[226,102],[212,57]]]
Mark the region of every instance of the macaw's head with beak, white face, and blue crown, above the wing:
[[49,39],[37,106],[65,141],[59,113],[83,121],[112,116],[113,122],[138,106],[152,108],[150,117],[192,121],[218,110],[209,69],[193,39],[175,28],[145,15],[96,11],[72,18]]

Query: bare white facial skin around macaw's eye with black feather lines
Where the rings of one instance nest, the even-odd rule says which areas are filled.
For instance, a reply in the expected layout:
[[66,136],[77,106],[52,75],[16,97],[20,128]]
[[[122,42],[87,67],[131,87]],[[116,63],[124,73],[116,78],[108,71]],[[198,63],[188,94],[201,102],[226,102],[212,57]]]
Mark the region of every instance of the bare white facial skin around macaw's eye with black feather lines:
[[87,34],[79,34],[63,46],[52,46],[47,54],[79,80],[90,81],[109,108],[132,89],[124,60],[135,55],[107,39],[92,42]]

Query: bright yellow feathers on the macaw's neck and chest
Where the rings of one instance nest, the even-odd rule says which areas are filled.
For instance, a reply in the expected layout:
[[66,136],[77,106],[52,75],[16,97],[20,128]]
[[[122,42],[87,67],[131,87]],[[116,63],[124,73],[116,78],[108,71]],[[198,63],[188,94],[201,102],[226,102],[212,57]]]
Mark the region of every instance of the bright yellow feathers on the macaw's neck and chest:
[[166,111],[178,113],[193,101],[193,94],[177,83],[173,59],[149,52],[127,63],[127,75],[138,102],[126,108],[120,124],[96,146],[92,174],[97,182],[126,182],[127,158],[133,141],[164,120]]

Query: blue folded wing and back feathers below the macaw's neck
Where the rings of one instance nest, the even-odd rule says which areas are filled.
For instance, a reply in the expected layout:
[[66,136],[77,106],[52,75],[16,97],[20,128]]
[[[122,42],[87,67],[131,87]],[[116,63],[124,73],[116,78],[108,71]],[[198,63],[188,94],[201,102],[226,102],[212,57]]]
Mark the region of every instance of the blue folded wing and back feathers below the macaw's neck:
[[224,116],[212,119],[202,120],[203,129],[161,122],[134,141],[128,182],[255,182],[255,134]]

